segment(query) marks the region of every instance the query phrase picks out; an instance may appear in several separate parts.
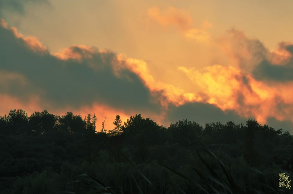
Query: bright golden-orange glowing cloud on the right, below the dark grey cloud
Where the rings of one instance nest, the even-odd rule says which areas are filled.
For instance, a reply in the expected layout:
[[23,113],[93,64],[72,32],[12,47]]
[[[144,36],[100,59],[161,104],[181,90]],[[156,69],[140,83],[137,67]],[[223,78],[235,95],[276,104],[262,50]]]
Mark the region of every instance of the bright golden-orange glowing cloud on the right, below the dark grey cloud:
[[[206,67],[202,72],[179,67],[196,86],[202,87],[204,102],[225,110],[235,110],[244,117],[265,123],[268,117],[292,120],[293,83],[266,84],[240,69],[222,65]],[[280,109],[280,106],[286,107]]]

